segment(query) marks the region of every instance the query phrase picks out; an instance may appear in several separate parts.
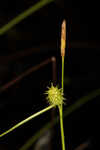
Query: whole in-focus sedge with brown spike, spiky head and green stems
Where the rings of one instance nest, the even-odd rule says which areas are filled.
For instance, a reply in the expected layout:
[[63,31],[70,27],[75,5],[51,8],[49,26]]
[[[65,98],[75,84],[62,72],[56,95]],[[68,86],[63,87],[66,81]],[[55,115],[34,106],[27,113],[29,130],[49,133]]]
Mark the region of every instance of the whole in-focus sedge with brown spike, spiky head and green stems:
[[26,118],[25,120],[19,122],[12,128],[8,129],[4,133],[0,134],[0,138],[8,133],[12,132],[16,128],[20,127],[21,125],[25,124],[26,122],[30,121],[31,119],[43,114],[44,112],[52,109],[53,107],[58,107],[59,109],[59,118],[60,118],[60,129],[61,129],[61,142],[62,142],[62,150],[65,150],[65,140],[64,140],[64,127],[63,127],[63,103],[64,103],[64,56],[65,56],[65,42],[66,42],[66,22],[65,20],[62,23],[61,28],[61,57],[62,57],[62,80],[61,85],[62,87],[59,89],[57,86],[48,87],[48,90],[45,92],[47,94],[47,101],[49,106],[40,110],[39,112],[31,115],[30,117]]

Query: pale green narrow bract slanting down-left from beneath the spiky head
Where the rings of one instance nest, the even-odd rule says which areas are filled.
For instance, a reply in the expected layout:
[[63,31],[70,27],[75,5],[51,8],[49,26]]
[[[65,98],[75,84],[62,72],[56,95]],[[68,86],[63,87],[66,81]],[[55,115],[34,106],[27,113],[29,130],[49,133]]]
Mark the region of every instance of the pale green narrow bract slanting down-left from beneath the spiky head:
[[39,111],[39,112],[37,112],[37,113],[31,115],[30,117],[28,117],[28,118],[26,118],[25,120],[19,122],[18,124],[16,124],[16,125],[13,126],[12,128],[10,128],[9,130],[7,130],[7,131],[5,131],[4,133],[0,134],[0,137],[3,137],[4,135],[6,135],[6,134],[12,132],[13,130],[15,130],[15,129],[18,128],[19,126],[25,124],[26,122],[30,121],[31,119],[33,119],[33,118],[39,116],[40,114],[42,114],[42,113],[44,113],[44,112],[50,110],[50,109],[53,108],[53,107],[55,107],[55,106],[54,106],[54,105],[48,106],[47,108],[45,108],[45,109],[43,109],[43,110],[41,110],[41,111]]

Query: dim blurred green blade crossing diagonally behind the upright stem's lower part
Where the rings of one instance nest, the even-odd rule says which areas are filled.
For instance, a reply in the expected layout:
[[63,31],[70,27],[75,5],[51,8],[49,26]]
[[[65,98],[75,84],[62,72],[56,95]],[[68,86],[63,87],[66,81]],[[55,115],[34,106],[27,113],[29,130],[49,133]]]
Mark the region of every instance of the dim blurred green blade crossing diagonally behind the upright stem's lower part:
[[[96,89],[92,92],[90,92],[88,95],[83,96],[82,98],[78,99],[74,104],[67,107],[67,109],[64,110],[63,117],[67,117],[71,115],[75,110],[79,109],[80,107],[84,106],[89,101],[93,101],[94,98],[100,96],[100,89]],[[53,125],[56,125],[58,123],[58,116],[55,117]],[[24,145],[21,146],[19,150],[28,150],[36,141],[37,139],[47,130],[51,128],[51,122],[47,122],[40,130],[38,130],[35,135],[30,137]]]

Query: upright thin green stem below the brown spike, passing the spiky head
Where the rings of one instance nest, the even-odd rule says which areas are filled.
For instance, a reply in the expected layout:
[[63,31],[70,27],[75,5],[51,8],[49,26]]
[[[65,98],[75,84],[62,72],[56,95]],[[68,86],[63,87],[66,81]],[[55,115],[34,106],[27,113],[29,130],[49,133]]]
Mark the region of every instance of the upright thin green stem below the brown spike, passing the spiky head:
[[[64,56],[62,56],[62,93],[63,92],[64,92]],[[62,150],[65,150],[64,127],[63,127],[63,105],[59,106],[59,115],[60,115]]]

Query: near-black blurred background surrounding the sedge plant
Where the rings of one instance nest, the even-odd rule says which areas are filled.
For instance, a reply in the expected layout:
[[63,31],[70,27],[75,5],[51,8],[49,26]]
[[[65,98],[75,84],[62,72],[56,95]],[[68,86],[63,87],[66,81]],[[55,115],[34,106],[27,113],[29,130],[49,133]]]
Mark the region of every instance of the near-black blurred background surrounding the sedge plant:
[[[0,28],[37,2],[0,1]],[[60,33],[63,19],[67,22],[67,105],[64,109],[99,89],[99,17],[96,1],[55,0],[0,35],[0,133],[46,107],[44,92],[51,82],[60,86]],[[52,57],[56,58],[56,62],[43,65],[6,88],[8,82]],[[64,119],[67,150],[99,149],[99,98],[97,96]],[[18,150],[50,119],[51,113],[44,114],[3,137],[0,139],[0,150]],[[54,149],[61,149],[60,139],[57,138],[60,137],[59,125],[56,129]],[[33,149],[35,146],[30,150]]]

